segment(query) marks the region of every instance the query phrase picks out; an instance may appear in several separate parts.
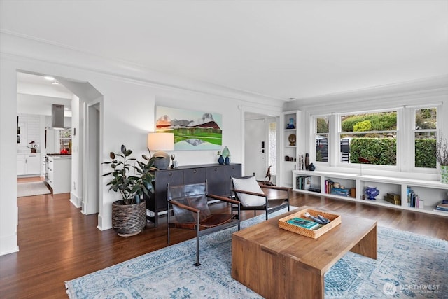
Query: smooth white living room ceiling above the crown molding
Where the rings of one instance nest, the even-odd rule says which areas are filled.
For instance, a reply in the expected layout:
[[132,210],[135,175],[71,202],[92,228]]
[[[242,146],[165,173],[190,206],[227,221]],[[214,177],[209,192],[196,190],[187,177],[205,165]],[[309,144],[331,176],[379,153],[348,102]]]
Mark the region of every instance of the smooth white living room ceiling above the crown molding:
[[448,74],[448,0],[0,0],[0,30],[285,100]]

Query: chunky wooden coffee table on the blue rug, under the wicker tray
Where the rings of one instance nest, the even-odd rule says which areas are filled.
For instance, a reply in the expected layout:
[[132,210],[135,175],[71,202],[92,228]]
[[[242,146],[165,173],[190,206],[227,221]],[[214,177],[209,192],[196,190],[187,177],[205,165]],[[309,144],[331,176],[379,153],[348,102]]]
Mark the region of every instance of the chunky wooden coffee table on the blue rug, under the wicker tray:
[[[281,216],[232,235],[232,277],[265,298],[323,298],[323,274],[348,251],[377,259],[377,221],[341,214],[318,239],[279,228]],[[332,214],[338,214],[330,212]]]

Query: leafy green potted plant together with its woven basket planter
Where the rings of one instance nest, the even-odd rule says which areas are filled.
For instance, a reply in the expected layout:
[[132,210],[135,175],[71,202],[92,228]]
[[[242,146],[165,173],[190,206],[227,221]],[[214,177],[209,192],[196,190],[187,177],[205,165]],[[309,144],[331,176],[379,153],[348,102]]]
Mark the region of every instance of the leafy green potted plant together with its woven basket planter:
[[102,176],[112,176],[106,186],[109,190],[120,193],[121,199],[112,204],[112,227],[118,235],[129,237],[137,235],[146,226],[146,200],[154,193],[153,181],[155,179],[153,166],[158,158],[148,158],[142,155],[144,161],[131,158],[132,150],[121,146],[120,153],[111,152],[110,165],[112,171]]

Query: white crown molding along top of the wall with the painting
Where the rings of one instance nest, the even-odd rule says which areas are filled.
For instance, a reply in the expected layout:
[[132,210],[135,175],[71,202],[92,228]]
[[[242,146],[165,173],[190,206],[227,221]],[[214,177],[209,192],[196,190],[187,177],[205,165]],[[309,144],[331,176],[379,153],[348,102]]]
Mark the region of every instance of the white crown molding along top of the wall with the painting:
[[194,78],[165,74],[132,62],[87,53],[73,47],[8,32],[3,29],[0,29],[0,40],[0,55],[3,59],[58,64],[63,67],[73,67],[102,76],[118,78],[121,81],[150,85],[155,88],[199,92],[277,108],[285,102],[285,99],[281,98],[229,88]]

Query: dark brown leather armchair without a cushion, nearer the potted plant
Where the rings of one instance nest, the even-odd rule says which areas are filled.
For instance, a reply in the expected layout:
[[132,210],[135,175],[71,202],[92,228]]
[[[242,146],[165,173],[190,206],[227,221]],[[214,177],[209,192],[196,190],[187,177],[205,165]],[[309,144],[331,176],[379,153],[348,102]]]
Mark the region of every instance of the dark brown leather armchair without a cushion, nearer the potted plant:
[[[230,203],[228,214],[214,214],[209,209],[208,200],[221,200]],[[195,183],[190,185],[169,186],[167,185],[168,202],[168,244],[169,231],[171,228],[181,228],[196,231],[196,263],[200,264],[199,238],[202,235],[209,235],[218,230],[224,230],[233,226],[238,226],[240,202],[228,197],[208,194],[207,181],[205,183]],[[237,210],[233,214],[232,210]],[[174,216],[172,216],[174,214]]]

